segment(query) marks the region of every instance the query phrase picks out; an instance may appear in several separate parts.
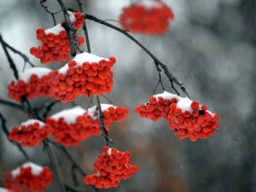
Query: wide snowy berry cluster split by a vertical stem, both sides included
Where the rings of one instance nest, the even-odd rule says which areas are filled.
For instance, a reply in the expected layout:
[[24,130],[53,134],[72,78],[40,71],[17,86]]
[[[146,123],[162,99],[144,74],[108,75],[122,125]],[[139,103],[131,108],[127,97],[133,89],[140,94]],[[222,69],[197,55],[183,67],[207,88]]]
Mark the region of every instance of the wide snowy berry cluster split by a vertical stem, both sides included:
[[[125,119],[128,109],[102,104],[102,113],[107,131],[113,121]],[[92,136],[100,136],[100,121],[96,107],[75,107],[55,113],[46,118],[46,123],[53,127],[55,141],[65,146],[75,146]]]

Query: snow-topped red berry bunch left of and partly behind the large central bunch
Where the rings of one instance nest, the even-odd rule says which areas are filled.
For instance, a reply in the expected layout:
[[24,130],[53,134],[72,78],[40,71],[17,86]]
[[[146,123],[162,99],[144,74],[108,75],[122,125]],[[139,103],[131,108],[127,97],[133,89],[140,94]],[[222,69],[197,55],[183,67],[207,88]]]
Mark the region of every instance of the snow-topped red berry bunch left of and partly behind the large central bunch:
[[21,102],[22,96],[33,99],[38,96],[51,96],[49,91],[50,69],[44,67],[32,67],[20,73],[18,81],[12,81],[8,85],[9,97]]

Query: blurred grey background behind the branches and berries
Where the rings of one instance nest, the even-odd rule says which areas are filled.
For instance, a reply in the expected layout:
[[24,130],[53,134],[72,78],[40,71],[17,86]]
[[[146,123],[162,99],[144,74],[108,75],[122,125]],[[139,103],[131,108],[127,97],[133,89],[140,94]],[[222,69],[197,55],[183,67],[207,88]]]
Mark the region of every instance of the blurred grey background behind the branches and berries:
[[[251,192],[256,191],[256,142],[254,136],[256,111],[256,1],[254,0],[164,0],[176,15],[163,36],[133,34],[150,49],[170,71],[182,80],[192,99],[207,103],[220,116],[219,131],[207,140],[192,143],[180,141],[168,129],[166,121],[141,119],[133,113],[138,104],[153,95],[158,73],[153,61],[128,38],[112,29],[88,20],[92,53],[102,57],[113,55],[113,90],[108,97],[115,105],[130,108],[130,116],[113,125],[110,136],[114,146],[129,150],[132,162],[140,172],[122,181],[113,192]],[[68,7],[78,9],[76,1],[66,0]],[[133,0],[135,3],[136,0]],[[84,12],[103,20],[118,20],[128,0],[89,0]],[[29,54],[38,46],[36,29],[53,26],[53,20],[36,0],[0,0],[0,32],[5,41],[21,50],[37,66],[38,60]],[[48,1],[49,9],[60,9],[56,1]],[[57,22],[62,14],[57,15]],[[111,21],[119,26],[118,22]],[[79,32],[83,34],[83,32]],[[85,49],[85,47],[84,47]],[[11,54],[21,70],[24,61]],[[14,79],[8,61],[0,48],[0,97],[8,100],[7,84]],[[62,64],[49,64],[59,68]],[[28,67],[28,66],[27,66]],[[166,89],[170,83],[164,79]],[[160,93],[161,90],[158,90]],[[50,102],[35,99],[34,107]],[[89,100],[77,101],[84,108]],[[102,98],[102,102],[108,102]],[[51,113],[70,104],[57,104]],[[9,130],[26,120],[27,114],[15,108],[0,107],[8,119]],[[24,162],[20,152],[0,131],[0,185],[3,172]],[[232,140],[234,137],[239,142]],[[91,137],[77,148],[68,148],[87,173],[93,172],[93,162],[101,153],[103,140]],[[32,160],[48,165],[43,147],[26,148]],[[73,184],[70,163],[55,148],[58,163],[66,183]],[[81,186],[84,187],[81,180]],[[48,191],[58,191],[55,185]]]

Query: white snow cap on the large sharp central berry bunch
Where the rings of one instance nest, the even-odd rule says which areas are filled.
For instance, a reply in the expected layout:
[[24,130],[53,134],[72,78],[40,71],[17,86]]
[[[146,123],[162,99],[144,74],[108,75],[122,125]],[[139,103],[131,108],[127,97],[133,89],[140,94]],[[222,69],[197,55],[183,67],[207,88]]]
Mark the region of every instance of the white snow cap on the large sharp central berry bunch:
[[[86,53],[86,52],[78,54],[73,58],[73,61],[77,62],[77,64],[74,67],[81,66],[81,65],[83,65],[84,62],[89,62],[91,64],[92,62],[98,63],[101,60],[108,61],[108,59],[106,59],[106,58],[102,58],[102,57],[92,55],[92,54]],[[64,67],[61,67],[58,72],[66,74],[67,69],[68,69],[68,63]]]

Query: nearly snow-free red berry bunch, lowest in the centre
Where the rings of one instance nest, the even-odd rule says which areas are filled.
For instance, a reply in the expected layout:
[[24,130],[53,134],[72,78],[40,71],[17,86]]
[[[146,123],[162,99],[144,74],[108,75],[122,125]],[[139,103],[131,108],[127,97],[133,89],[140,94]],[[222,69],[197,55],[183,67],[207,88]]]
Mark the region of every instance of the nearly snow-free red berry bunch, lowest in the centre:
[[131,164],[130,158],[129,151],[120,152],[117,148],[104,146],[94,164],[96,174],[84,177],[84,183],[96,188],[118,187],[121,179],[131,178],[139,170]]

